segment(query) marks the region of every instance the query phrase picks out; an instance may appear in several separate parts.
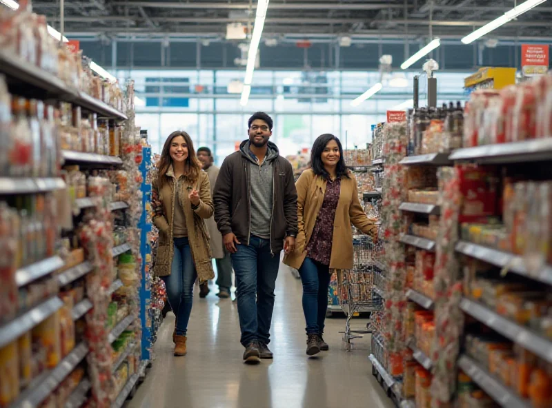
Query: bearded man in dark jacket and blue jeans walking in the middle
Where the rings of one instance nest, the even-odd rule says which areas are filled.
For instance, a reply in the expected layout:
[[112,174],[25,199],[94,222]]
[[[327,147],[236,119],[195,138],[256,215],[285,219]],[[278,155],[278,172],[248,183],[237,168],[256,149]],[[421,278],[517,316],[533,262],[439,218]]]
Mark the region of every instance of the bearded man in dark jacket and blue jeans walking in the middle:
[[215,221],[236,274],[246,363],[273,358],[268,343],[280,252],[293,252],[297,235],[293,170],[268,141],[272,128],[268,114],[250,117],[249,140],[226,157],[213,194]]

